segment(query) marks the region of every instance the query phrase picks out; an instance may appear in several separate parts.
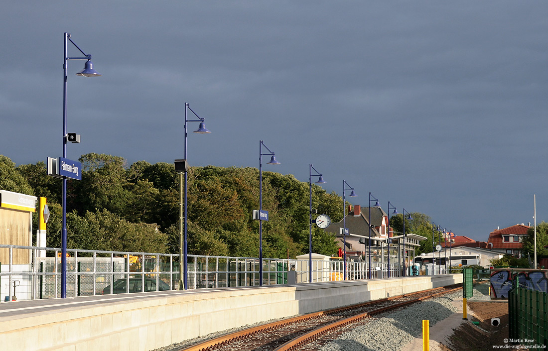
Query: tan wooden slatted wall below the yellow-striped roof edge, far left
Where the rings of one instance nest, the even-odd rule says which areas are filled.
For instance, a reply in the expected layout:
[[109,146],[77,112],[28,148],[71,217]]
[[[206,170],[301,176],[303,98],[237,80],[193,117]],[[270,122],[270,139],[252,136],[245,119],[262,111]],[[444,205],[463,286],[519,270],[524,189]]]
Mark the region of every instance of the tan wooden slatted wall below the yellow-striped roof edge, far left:
[[[32,212],[0,208],[0,244],[31,246]],[[29,262],[28,250],[13,250],[14,264]],[[9,249],[0,249],[0,263],[9,264]]]

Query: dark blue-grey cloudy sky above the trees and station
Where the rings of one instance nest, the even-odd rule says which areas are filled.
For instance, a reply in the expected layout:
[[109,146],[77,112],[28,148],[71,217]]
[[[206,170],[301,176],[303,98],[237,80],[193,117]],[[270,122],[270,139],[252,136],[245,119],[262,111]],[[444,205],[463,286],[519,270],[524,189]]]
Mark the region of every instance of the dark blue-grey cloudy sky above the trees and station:
[[[324,188],[343,180],[458,235],[548,221],[545,1],[29,1],[0,4],[0,154],[183,156],[184,103],[213,133],[190,165],[258,167]],[[78,56],[69,48],[69,56]],[[197,128],[191,125],[190,128]]]

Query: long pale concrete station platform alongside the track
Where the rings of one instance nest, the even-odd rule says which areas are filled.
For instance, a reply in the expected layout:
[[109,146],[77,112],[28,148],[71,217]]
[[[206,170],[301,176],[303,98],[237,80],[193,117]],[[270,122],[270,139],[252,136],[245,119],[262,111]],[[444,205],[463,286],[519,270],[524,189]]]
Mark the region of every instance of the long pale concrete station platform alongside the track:
[[10,351],[149,351],[246,324],[463,282],[446,274],[0,303]]

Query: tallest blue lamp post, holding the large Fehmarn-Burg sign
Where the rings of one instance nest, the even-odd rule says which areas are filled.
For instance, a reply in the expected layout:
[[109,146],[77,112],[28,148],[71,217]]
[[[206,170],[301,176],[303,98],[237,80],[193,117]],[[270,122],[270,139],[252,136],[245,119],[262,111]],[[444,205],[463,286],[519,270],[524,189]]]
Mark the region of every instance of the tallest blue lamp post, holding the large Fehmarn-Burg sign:
[[[68,57],[67,44],[72,43],[85,57]],[[68,60],[87,60],[84,64],[84,69],[76,73],[82,77],[99,77],[97,71],[93,69],[92,55],[86,55],[82,49],[76,45],[70,38],[70,33],[65,33],[65,55],[63,62],[63,158],[67,157],[67,64]],[[67,177],[63,176],[62,185],[62,229],[61,229],[61,298],[66,298],[66,282],[67,282]]]

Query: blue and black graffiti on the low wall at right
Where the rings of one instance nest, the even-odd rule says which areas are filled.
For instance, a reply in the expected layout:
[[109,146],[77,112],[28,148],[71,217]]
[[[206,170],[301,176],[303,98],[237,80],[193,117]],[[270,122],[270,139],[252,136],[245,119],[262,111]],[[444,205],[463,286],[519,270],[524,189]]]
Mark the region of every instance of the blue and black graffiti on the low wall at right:
[[[529,271],[518,272],[517,280],[520,287],[530,290],[548,292],[548,272]],[[513,287],[512,271],[491,272],[491,297],[508,298],[510,289]]]

